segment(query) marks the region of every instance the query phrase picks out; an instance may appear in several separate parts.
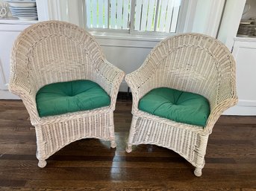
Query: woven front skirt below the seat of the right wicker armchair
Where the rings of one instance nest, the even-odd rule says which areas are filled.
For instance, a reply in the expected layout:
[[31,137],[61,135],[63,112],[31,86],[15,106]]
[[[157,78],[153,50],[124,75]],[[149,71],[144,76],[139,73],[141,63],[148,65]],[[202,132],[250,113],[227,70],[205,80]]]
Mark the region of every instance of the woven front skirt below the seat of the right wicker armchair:
[[134,132],[132,140],[128,144],[154,144],[172,149],[193,166],[203,168],[205,166],[205,152],[209,135],[199,131],[184,129],[181,123],[172,121],[172,125],[156,120],[149,120],[134,115]]

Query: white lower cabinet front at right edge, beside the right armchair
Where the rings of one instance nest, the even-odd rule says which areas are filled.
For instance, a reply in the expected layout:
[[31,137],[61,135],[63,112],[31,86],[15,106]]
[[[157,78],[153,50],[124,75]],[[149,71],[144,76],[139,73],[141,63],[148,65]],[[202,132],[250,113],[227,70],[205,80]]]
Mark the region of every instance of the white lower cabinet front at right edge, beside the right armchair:
[[226,114],[256,115],[256,39],[234,42],[233,56],[237,62],[237,106]]

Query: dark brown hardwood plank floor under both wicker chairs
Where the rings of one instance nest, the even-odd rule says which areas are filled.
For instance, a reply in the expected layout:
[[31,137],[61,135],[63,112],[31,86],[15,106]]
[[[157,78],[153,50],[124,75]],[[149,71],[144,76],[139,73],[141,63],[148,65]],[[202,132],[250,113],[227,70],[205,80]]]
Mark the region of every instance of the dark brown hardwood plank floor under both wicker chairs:
[[37,167],[36,137],[19,100],[0,100],[0,190],[256,190],[256,117],[222,116],[210,135],[202,177],[175,152],[125,152],[131,101],[116,106],[116,149],[78,140]]

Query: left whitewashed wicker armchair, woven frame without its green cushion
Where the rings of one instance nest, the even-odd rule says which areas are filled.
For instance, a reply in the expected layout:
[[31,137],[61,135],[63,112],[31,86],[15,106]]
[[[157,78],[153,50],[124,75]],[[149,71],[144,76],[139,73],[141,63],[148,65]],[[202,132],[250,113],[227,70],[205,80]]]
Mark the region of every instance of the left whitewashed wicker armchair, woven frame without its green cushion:
[[[124,72],[111,65],[87,31],[67,22],[39,22],[25,29],[13,45],[9,90],[21,97],[35,126],[38,166],[75,140],[110,140],[115,148],[113,111]],[[108,95],[109,106],[40,117],[37,91],[44,85],[91,80]]]

